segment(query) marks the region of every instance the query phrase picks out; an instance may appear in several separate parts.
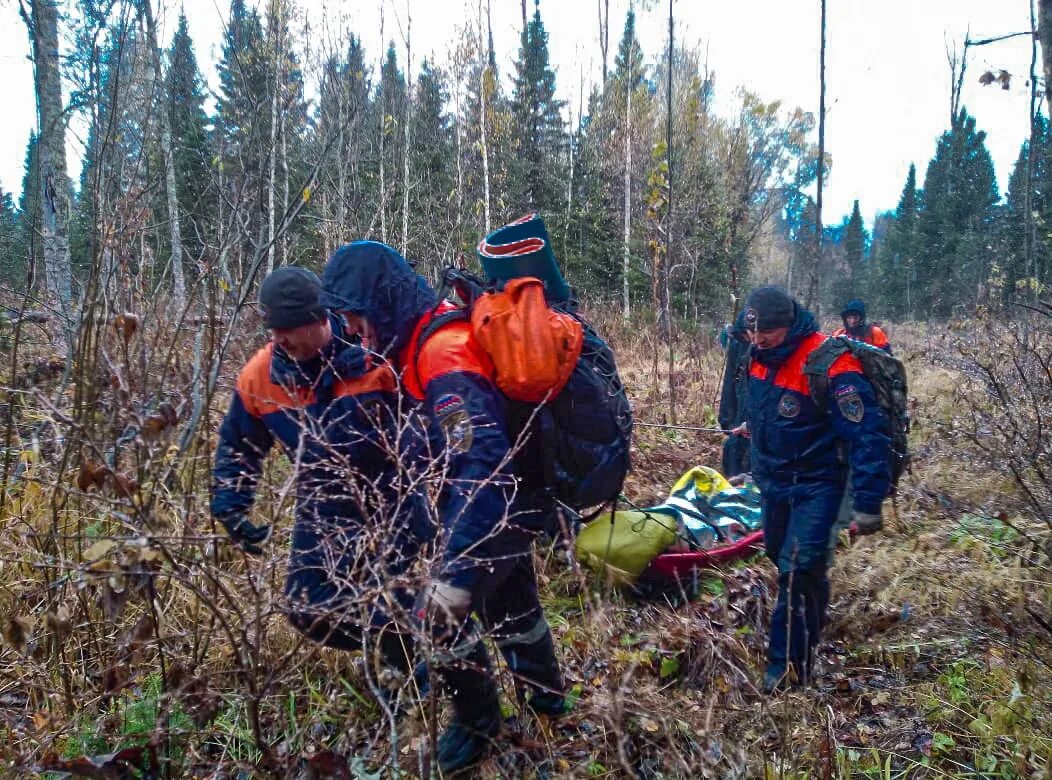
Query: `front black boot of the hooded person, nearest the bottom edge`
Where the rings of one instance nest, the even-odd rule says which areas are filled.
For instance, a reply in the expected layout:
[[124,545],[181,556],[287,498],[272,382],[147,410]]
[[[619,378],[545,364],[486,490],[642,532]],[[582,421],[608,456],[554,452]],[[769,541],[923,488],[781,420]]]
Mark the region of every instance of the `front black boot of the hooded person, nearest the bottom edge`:
[[439,769],[451,775],[485,757],[501,731],[501,704],[481,642],[457,666],[436,671],[453,706],[452,722],[439,737],[438,749]]

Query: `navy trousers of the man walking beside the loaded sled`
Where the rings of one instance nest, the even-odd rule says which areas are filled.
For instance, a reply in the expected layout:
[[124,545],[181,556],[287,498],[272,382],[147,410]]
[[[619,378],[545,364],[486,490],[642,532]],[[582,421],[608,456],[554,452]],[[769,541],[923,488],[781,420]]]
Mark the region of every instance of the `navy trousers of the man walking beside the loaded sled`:
[[843,482],[773,483],[763,489],[764,543],[778,569],[767,659],[778,674],[795,667],[806,680],[829,606],[829,534]]

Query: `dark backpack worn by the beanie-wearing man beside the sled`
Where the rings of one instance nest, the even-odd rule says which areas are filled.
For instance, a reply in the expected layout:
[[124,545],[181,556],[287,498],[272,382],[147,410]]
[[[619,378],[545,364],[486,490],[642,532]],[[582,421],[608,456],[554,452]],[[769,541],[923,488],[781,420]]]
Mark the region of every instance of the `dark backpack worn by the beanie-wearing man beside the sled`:
[[847,336],[826,339],[808,356],[804,365],[811,398],[823,412],[829,405],[829,369],[846,353],[862,363],[863,374],[873,385],[876,402],[887,416],[888,434],[891,436],[888,465],[891,469],[891,487],[894,489],[910,463],[906,366],[898,358],[863,341]]

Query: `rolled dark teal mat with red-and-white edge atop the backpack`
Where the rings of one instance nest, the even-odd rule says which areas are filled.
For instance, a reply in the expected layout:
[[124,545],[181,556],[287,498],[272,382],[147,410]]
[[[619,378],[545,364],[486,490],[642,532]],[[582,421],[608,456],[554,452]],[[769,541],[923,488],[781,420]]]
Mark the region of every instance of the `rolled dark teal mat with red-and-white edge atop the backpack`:
[[488,279],[535,277],[544,282],[549,300],[569,300],[570,285],[559,269],[544,220],[539,215],[529,214],[493,231],[480,242],[478,252]]

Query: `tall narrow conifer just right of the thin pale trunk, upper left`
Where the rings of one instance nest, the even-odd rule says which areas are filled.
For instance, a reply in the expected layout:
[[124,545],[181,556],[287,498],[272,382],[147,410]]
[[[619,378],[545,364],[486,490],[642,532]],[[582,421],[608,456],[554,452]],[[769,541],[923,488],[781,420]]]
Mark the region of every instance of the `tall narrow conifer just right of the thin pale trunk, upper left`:
[[204,109],[204,83],[183,13],[179,15],[167,59],[165,94],[171,122],[180,233],[187,260],[199,261],[207,237],[215,231],[217,197],[211,164],[215,152]]

